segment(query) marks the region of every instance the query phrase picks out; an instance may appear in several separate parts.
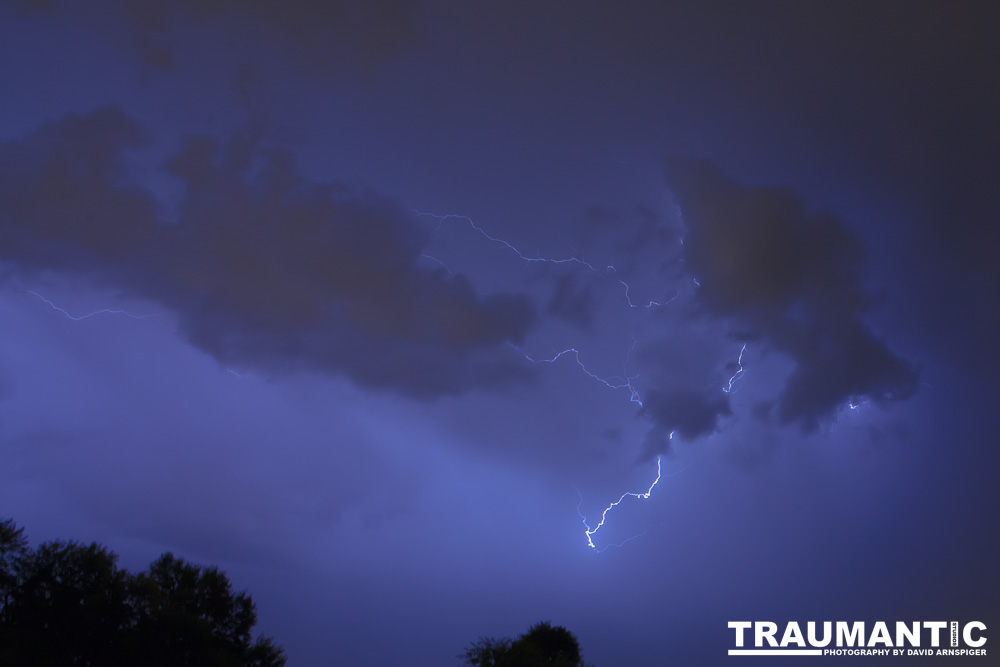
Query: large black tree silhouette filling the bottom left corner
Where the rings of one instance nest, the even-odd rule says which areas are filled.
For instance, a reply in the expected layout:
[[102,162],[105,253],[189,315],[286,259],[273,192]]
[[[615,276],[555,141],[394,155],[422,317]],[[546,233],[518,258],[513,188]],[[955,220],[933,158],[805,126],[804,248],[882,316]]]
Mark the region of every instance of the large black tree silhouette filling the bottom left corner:
[[0,521],[0,664],[280,667],[253,600],[218,568],[166,553],[139,574],[97,543],[28,546]]

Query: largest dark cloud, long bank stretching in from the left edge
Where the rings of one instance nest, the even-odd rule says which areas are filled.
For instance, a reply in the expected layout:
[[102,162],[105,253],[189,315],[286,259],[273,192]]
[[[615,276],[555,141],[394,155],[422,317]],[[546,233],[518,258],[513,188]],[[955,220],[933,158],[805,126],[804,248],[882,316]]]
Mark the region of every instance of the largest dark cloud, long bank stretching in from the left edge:
[[116,108],[69,115],[0,145],[0,261],[58,270],[174,310],[221,363],[321,370],[411,396],[523,374],[505,351],[536,320],[523,295],[479,298],[417,267],[424,231],[395,201],[305,182],[292,156],[244,132],[192,138],[166,170],[170,221],[129,180],[142,128]]

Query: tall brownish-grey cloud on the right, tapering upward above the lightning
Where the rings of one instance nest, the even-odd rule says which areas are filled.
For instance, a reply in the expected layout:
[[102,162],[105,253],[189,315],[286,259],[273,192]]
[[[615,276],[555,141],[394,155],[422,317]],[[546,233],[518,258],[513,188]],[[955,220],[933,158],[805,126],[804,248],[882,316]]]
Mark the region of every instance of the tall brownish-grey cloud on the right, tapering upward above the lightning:
[[795,363],[776,405],[782,422],[808,431],[848,400],[914,393],[918,371],[865,321],[865,253],[850,230],[788,191],[740,186],[707,162],[671,158],[666,166],[698,303]]

